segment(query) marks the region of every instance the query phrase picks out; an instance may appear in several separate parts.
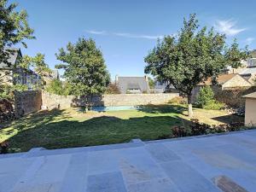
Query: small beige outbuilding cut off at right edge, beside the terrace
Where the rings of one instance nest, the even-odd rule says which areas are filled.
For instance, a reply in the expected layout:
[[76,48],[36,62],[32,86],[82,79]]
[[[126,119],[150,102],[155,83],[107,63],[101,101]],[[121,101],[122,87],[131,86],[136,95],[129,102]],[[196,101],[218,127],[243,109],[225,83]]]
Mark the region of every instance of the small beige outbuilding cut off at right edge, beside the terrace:
[[256,92],[243,96],[246,98],[245,125],[256,125]]

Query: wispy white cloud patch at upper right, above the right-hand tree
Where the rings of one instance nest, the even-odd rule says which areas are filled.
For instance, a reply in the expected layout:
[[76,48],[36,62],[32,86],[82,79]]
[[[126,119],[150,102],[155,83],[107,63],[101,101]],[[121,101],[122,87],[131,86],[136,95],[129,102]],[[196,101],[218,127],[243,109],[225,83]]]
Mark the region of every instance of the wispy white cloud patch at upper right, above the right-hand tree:
[[234,20],[217,20],[215,27],[218,32],[224,32],[228,36],[234,36],[247,30],[247,28],[238,28]]

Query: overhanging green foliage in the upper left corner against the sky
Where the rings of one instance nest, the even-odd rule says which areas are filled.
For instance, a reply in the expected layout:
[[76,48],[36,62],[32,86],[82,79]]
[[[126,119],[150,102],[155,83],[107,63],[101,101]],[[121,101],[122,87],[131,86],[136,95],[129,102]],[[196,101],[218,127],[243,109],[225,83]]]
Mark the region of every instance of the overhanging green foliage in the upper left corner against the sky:
[[8,63],[11,47],[21,43],[26,47],[25,39],[35,38],[33,30],[27,22],[26,10],[15,11],[17,3],[8,3],[8,0],[0,0],[0,62]]

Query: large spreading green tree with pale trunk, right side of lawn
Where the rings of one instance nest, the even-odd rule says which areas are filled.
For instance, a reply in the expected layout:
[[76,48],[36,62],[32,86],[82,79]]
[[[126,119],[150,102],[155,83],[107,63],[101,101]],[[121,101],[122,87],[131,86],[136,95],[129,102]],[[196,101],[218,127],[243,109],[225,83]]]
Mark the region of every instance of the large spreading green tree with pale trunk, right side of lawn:
[[192,90],[201,82],[212,78],[227,67],[240,67],[247,59],[247,49],[239,49],[236,40],[230,48],[225,44],[225,35],[213,28],[201,29],[196,15],[183,20],[183,28],[177,36],[166,36],[145,57],[148,65],[145,73],[151,73],[161,82],[168,82],[188,96],[189,117],[192,111]]

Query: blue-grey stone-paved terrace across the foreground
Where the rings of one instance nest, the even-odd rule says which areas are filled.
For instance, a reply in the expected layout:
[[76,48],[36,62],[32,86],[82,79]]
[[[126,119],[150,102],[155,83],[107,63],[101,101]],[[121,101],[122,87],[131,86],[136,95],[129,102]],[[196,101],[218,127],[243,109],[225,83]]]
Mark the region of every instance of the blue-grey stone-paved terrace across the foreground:
[[0,155],[0,191],[256,191],[256,131]]

